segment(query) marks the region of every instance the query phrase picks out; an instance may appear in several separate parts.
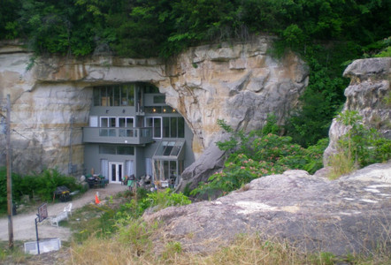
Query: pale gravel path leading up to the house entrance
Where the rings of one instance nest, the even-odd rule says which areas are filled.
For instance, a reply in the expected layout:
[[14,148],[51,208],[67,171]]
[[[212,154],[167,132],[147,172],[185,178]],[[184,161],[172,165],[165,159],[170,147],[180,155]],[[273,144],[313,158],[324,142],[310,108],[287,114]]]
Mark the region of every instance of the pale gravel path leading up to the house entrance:
[[[72,202],[73,210],[81,208],[88,203],[95,202],[96,192],[99,193],[99,200],[102,201],[104,198],[116,193],[126,190],[126,186],[118,184],[109,184],[105,188],[90,189],[87,193],[82,194],[79,198],[74,199]],[[48,215],[56,216],[62,212],[69,202],[60,202],[48,205]],[[21,214],[12,216],[13,223],[13,239],[14,240],[35,240],[35,217],[36,210],[28,214]],[[71,236],[71,231],[67,227],[51,226],[49,222],[43,221],[38,224],[38,233],[40,239],[58,238],[67,241]],[[8,241],[8,218],[4,217],[0,219],[0,240]]]

